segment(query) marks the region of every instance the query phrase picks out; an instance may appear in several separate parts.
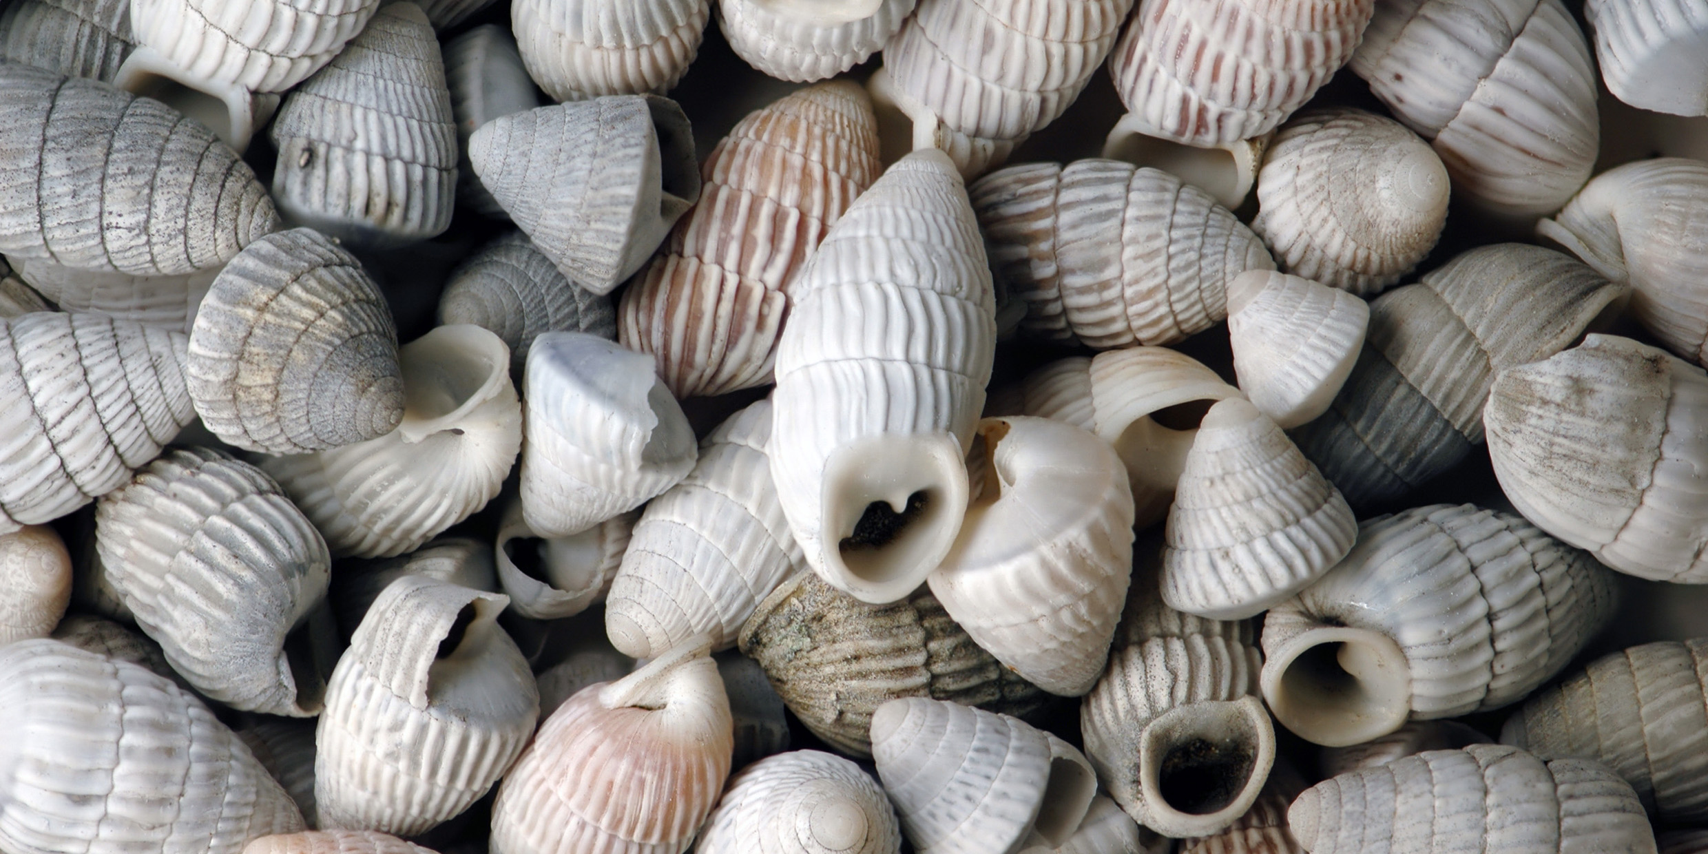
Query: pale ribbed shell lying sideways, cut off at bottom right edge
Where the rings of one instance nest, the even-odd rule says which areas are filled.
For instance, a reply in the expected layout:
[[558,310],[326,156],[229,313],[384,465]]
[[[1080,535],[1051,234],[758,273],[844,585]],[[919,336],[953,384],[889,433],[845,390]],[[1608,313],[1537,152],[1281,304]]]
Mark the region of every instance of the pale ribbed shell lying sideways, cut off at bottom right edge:
[[1378,844],[1454,854],[1655,851],[1641,804],[1606,767],[1544,763],[1505,745],[1431,750],[1319,782],[1288,808],[1288,827],[1312,854]]

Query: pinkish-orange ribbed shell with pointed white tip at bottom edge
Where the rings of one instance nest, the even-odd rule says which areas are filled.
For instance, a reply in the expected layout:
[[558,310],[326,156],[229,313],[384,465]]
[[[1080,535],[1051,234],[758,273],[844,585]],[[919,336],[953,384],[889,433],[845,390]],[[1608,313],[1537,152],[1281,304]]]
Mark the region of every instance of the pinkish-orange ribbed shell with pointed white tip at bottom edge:
[[492,854],[681,854],[729,777],[731,722],[707,644],[582,688],[492,804]]

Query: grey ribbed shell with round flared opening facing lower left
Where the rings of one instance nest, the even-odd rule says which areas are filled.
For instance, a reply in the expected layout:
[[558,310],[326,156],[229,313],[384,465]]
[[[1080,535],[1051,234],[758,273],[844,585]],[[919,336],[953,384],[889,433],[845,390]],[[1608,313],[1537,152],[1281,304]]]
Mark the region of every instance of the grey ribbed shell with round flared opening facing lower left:
[[1327,576],[1264,617],[1264,700],[1324,746],[1500,709],[1612,618],[1612,574],[1524,519],[1435,504],[1360,526]]

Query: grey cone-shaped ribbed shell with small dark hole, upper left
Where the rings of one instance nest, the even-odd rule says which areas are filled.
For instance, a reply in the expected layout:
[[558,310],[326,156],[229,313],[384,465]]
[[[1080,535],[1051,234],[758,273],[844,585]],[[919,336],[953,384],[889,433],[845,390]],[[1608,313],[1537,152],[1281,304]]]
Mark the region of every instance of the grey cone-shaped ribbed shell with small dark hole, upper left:
[[374,14],[285,96],[268,133],[278,149],[273,200],[292,222],[374,249],[451,225],[456,118],[439,43],[415,3]]

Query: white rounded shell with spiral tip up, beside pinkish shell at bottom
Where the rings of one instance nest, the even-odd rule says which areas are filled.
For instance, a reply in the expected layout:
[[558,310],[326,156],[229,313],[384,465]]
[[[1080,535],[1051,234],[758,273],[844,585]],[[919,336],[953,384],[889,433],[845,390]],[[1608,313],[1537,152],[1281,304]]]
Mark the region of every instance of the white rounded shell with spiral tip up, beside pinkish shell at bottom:
[[729,779],[697,854],[900,854],[878,781],[818,750],[763,758]]

